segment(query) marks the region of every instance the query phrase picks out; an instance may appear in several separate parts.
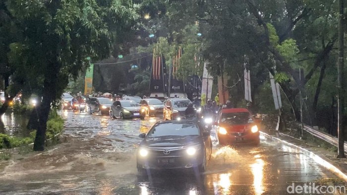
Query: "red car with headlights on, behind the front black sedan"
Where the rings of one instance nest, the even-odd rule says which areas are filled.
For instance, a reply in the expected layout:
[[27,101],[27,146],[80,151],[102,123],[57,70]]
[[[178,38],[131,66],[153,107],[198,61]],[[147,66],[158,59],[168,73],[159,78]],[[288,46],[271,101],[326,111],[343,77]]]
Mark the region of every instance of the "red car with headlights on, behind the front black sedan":
[[246,108],[222,109],[216,119],[219,144],[260,143],[259,121]]

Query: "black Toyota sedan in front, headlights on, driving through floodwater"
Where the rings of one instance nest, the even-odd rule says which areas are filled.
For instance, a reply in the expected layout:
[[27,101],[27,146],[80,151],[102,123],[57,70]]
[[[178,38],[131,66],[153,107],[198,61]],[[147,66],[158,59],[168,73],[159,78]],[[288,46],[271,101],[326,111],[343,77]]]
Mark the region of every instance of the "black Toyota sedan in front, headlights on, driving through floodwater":
[[192,121],[156,123],[143,138],[137,151],[137,170],[193,169],[204,172],[212,154],[210,133]]

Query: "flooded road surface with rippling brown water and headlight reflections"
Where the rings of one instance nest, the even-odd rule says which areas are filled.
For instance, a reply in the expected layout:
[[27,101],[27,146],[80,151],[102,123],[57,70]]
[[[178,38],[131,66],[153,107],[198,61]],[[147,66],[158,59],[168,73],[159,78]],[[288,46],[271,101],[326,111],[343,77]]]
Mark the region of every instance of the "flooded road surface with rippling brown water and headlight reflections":
[[138,134],[161,118],[116,120],[70,111],[61,114],[66,119],[66,140],[53,150],[4,166],[0,194],[283,195],[293,182],[336,178],[307,156],[265,139],[258,147],[214,144],[202,176],[170,171],[143,178],[136,170]]

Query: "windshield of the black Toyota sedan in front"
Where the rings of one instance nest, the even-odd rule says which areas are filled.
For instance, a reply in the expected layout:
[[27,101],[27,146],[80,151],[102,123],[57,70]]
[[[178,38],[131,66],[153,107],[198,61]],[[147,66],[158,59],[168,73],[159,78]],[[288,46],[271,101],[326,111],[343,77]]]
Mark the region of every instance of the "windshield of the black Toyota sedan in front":
[[199,128],[193,123],[164,123],[154,126],[148,137],[199,135]]

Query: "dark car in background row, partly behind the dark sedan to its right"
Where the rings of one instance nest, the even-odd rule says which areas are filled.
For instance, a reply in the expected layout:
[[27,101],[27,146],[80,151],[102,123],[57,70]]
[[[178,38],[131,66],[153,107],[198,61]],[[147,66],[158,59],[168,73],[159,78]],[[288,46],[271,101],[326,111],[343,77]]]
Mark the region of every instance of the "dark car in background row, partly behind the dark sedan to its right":
[[86,110],[88,114],[92,113],[98,113],[99,115],[102,114],[109,114],[110,113],[110,107],[112,106],[113,102],[109,98],[89,98],[87,100]]

